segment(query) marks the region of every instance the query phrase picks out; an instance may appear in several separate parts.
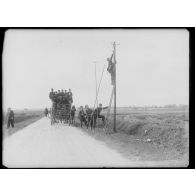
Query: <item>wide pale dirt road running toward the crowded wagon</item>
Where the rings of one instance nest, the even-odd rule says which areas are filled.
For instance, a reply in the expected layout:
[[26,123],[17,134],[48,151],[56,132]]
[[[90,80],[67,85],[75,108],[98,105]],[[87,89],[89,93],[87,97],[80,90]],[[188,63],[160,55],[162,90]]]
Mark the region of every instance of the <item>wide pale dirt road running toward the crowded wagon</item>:
[[130,161],[75,127],[50,125],[46,118],[3,141],[6,167],[180,166],[174,161]]

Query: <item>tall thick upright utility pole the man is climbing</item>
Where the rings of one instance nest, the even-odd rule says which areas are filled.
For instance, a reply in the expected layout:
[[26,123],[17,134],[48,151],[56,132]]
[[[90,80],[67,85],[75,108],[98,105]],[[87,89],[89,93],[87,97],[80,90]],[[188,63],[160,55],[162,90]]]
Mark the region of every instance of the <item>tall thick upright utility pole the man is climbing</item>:
[[113,43],[113,57],[114,57],[114,128],[113,131],[116,132],[116,43]]

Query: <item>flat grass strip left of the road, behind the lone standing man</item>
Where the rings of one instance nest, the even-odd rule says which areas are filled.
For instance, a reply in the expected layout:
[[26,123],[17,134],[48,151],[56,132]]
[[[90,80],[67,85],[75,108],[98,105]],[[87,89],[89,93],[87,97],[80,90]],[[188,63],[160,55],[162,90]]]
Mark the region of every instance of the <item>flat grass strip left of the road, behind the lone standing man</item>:
[[[5,117],[3,120],[3,137],[10,136],[17,131],[23,129],[29,124],[39,120],[44,116],[43,110],[14,110],[15,126],[14,128],[7,129]],[[5,116],[5,113],[4,113]]]

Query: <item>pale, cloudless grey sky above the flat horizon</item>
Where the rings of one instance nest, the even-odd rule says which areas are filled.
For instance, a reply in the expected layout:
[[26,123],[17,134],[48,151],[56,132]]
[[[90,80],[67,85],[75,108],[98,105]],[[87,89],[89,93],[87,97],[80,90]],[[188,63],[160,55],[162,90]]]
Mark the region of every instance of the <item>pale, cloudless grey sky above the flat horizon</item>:
[[108,105],[106,59],[116,41],[117,106],[189,103],[185,29],[8,30],[3,48],[3,108],[51,107],[49,92],[71,89],[76,106]]

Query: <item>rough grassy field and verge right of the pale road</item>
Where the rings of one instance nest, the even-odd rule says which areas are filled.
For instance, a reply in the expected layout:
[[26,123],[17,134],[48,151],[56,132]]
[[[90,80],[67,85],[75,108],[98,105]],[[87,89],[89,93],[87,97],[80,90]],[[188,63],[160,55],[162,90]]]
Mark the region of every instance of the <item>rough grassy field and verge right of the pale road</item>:
[[[186,110],[148,109],[117,110],[117,133],[112,133],[113,116],[108,128],[84,128],[83,131],[118,150],[125,156],[141,160],[188,159],[189,114]],[[103,113],[102,113],[103,114]],[[79,125],[77,121],[76,125]]]

